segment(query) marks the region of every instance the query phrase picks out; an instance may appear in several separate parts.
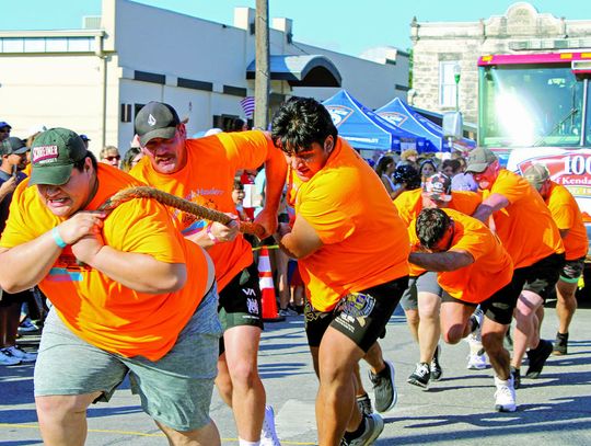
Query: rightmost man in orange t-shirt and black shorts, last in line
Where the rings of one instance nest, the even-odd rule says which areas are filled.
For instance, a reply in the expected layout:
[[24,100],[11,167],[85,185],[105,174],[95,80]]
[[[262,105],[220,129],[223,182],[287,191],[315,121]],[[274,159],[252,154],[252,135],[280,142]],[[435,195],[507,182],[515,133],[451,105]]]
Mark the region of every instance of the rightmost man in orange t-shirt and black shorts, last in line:
[[554,342],[555,355],[566,355],[568,346],[568,328],[577,310],[577,285],[582,276],[584,259],[589,249],[587,230],[579,205],[565,186],[549,179],[549,172],[543,164],[533,164],[523,172],[525,180],[535,187],[558,226],[565,243],[566,262],[560,277],[556,283],[556,313],[558,316],[558,332]]

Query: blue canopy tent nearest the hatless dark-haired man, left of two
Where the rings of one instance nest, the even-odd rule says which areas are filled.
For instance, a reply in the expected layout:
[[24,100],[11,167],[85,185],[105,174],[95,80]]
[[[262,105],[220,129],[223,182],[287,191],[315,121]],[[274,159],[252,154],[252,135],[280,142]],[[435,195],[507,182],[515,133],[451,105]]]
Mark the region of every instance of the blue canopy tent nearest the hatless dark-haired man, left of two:
[[338,134],[356,149],[401,150],[401,139],[416,141],[422,151],[425,138],[405,131],[363,106],[345,90],[323,102],[333,117]]

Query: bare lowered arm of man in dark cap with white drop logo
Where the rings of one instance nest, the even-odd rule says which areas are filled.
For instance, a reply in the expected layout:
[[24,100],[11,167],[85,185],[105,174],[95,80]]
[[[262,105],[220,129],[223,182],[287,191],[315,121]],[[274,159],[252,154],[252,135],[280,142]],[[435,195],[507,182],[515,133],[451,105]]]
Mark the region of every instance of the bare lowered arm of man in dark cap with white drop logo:
[[265,207],[255,218],[255,222],[262,225],[268,237],[277,229],[277,211],[281,202],[281,194],[286,184],[287,162],[283,153],[274,146],[268,134],[267,158],[265,160],[265,175],[267,184],[265,190]]

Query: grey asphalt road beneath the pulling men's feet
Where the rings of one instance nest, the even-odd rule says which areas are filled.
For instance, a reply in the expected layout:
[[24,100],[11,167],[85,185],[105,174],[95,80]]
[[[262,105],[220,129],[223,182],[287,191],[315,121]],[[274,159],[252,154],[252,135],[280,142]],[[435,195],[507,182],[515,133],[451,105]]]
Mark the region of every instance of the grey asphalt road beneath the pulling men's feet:
[[[589,306],[587,306],[589,307]],[[546,309],[543,336],[554,340],[554,308]],[[396,312],[382,342],[384,356],[396,368],[398,403],[383,416],[376,445],[591,445],[591,309],[580,308],[570,330],[569,354],[551,357],[536,380],[523,379],[518,411],[494,411],[490,368],[467,370],[467,344],[444,345],[443,377],[428,391],[406,384],[418,359],[404,316]],[[38,335],[23,344],[34,348]],[[267,400],[276,411],[283,445],[315,445],[314,376],[303,334],[302,317],[269,323],[260,346],[260,375]],[[76,361],[76,358],[72,358]],[[523,370],[526,366],[523,366]],[[366,366],[362,366],[366,375]],[[371,389],[363,376],[366,386]],[[215,393],[211,416],[223,445],[236,445],[231,411]],[[33,402],[33,365],[0,367],[0,445],[40,444]],[[165,445],[152,421],[141,412],[127,384],[109,403],[89,410],[88,445]]]

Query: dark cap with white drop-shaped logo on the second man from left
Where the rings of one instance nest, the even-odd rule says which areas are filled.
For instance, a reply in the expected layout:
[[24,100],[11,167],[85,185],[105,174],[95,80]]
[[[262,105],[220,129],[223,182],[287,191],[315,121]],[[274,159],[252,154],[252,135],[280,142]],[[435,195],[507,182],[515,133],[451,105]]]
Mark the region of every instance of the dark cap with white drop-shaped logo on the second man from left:
[[138,112],[135,127],[141,146],[146,147],[153,138],[173,138],[178,124],[181,119],[171,105],[152,101]]

